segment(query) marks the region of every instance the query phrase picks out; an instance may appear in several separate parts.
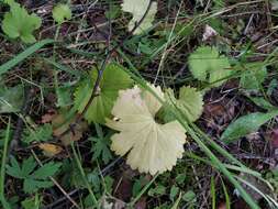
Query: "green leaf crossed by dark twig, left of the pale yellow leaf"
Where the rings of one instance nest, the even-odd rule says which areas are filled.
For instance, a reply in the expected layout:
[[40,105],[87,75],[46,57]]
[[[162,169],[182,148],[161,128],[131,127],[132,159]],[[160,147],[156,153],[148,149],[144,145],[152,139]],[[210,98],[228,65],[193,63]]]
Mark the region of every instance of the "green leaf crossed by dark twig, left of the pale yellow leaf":
[[[75,92],[75,106],[79,112],[85,109],[90,99],[97,76],[97,69],[92,69],[89,78],[85,79]],[[131,84],[130,76],[122,67],[115,64],[108,65],[99,85],[98,96],[85,113],[88,122],[104,123],[104,119],[110,116],[114,101],[116,100],[118,91],[129,88]]]

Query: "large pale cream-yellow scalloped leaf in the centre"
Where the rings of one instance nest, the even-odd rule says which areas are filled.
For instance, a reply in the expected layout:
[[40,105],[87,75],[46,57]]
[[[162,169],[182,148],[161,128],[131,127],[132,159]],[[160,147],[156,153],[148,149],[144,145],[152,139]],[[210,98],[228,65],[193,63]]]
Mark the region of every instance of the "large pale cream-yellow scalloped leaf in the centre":
[[[156,95],[164,99],[160,87],[152,86]],[[178,121],[158,124],[155,114],[162,105],[146,90],[135,86],[121,90],[112,109],[119,120],[107,119],[107,125],[120,133],[112,135],[111,150],[118,155],[127,154],[127,164],[142,173],[170,170],[177,158],[182,156],[186,134]]]

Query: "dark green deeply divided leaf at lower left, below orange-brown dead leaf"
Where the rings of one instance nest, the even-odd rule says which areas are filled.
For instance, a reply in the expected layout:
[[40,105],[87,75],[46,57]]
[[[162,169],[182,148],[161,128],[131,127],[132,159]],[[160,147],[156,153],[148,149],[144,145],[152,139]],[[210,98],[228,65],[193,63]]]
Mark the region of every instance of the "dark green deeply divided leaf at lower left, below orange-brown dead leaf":
[[20,166],[19,162],[12,156],[11,164],[7,165],[7,174],[23,179],[23,190],[31,194],[40,188],[52,187],[53,183],[48,180],[48,177],[58,172],[60,165],[60,163],[49,162],[36,168],[37,164],[31,156],[24,160]]

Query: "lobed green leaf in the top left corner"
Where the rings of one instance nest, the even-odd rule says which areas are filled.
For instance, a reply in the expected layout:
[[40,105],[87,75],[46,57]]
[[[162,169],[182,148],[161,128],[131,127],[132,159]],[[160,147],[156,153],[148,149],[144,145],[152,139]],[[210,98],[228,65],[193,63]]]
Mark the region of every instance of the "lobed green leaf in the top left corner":
[[33,32],[42,24],[41,18],[27,11],[14,1],[7,2],[10,11],[4,14],[2,30],[10,38],[20,37],[24,43],[35,42]]

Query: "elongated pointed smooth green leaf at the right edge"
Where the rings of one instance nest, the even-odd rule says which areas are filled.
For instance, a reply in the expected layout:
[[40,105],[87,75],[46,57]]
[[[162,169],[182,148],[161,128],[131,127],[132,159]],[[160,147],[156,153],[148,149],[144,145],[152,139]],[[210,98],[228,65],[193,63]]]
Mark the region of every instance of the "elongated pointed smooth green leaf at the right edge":
[[241,117],[226,128],[221,135],[221,140],[225,143],[234,142],[240,138],[257,131],[260,125],[276,116],[278,116],[278,110],[269,111],[267,113],[254,112]]

